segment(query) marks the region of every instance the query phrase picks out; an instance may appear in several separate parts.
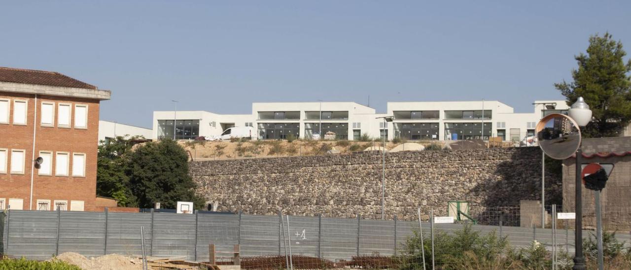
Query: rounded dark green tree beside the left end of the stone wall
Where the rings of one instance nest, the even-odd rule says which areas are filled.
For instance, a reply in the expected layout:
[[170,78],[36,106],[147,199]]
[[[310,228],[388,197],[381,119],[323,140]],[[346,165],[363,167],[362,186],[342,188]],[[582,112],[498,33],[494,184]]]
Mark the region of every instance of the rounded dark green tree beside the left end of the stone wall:
[[140,208],[152,208],[155,202],[165,208],[175,208],[177,201],[194,202],[196,209],[205,204],[195,194],[186,151],[170,139],[146,143],[132,151],[127,175]]

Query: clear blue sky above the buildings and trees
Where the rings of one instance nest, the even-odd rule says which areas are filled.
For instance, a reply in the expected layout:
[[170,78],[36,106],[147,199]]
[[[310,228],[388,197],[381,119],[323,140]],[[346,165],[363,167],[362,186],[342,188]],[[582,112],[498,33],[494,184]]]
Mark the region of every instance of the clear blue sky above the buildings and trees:
[[[440,3],[437,3],[440,2]],[[101,119],[252,102],[562,98],[587,38],[631,52],[631,1],[6,1],[0,66],[112,90]],[[581,2],[581,3],[577,3]]]

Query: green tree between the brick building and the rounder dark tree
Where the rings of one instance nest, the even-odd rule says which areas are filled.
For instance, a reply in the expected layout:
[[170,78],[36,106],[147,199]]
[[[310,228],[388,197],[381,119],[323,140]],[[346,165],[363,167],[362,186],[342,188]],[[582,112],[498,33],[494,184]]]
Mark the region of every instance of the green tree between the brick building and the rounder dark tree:
[[112,197],[119,206],[138,205],[126,173],[127,155],[132,146],[130,139],[136,138],[117,136],[109,141],[101,141],[98,145],[97,195]]

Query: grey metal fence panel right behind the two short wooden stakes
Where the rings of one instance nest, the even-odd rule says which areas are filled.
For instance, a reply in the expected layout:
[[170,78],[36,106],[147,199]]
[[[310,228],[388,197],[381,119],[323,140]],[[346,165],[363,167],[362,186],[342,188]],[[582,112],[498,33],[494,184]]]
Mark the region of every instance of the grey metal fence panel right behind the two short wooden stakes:
[[[215,250],[231,252],[239,244],[238,214],[198,214],[198,261],[208,261],[208,245]],[[221,254],[225,256],[227,254]]]

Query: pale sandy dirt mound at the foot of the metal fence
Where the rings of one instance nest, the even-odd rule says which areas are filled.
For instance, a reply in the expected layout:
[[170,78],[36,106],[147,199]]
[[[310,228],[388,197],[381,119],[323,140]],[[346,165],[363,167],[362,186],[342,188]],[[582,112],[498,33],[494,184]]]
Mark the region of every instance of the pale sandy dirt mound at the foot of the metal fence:
[[85,270],[137,270],[143,269],[143,262],[136,257],[127,257],[119,254],[108,254],[101,257],[86,258],[75,252],[59,254],[56,260],[74,264]]

